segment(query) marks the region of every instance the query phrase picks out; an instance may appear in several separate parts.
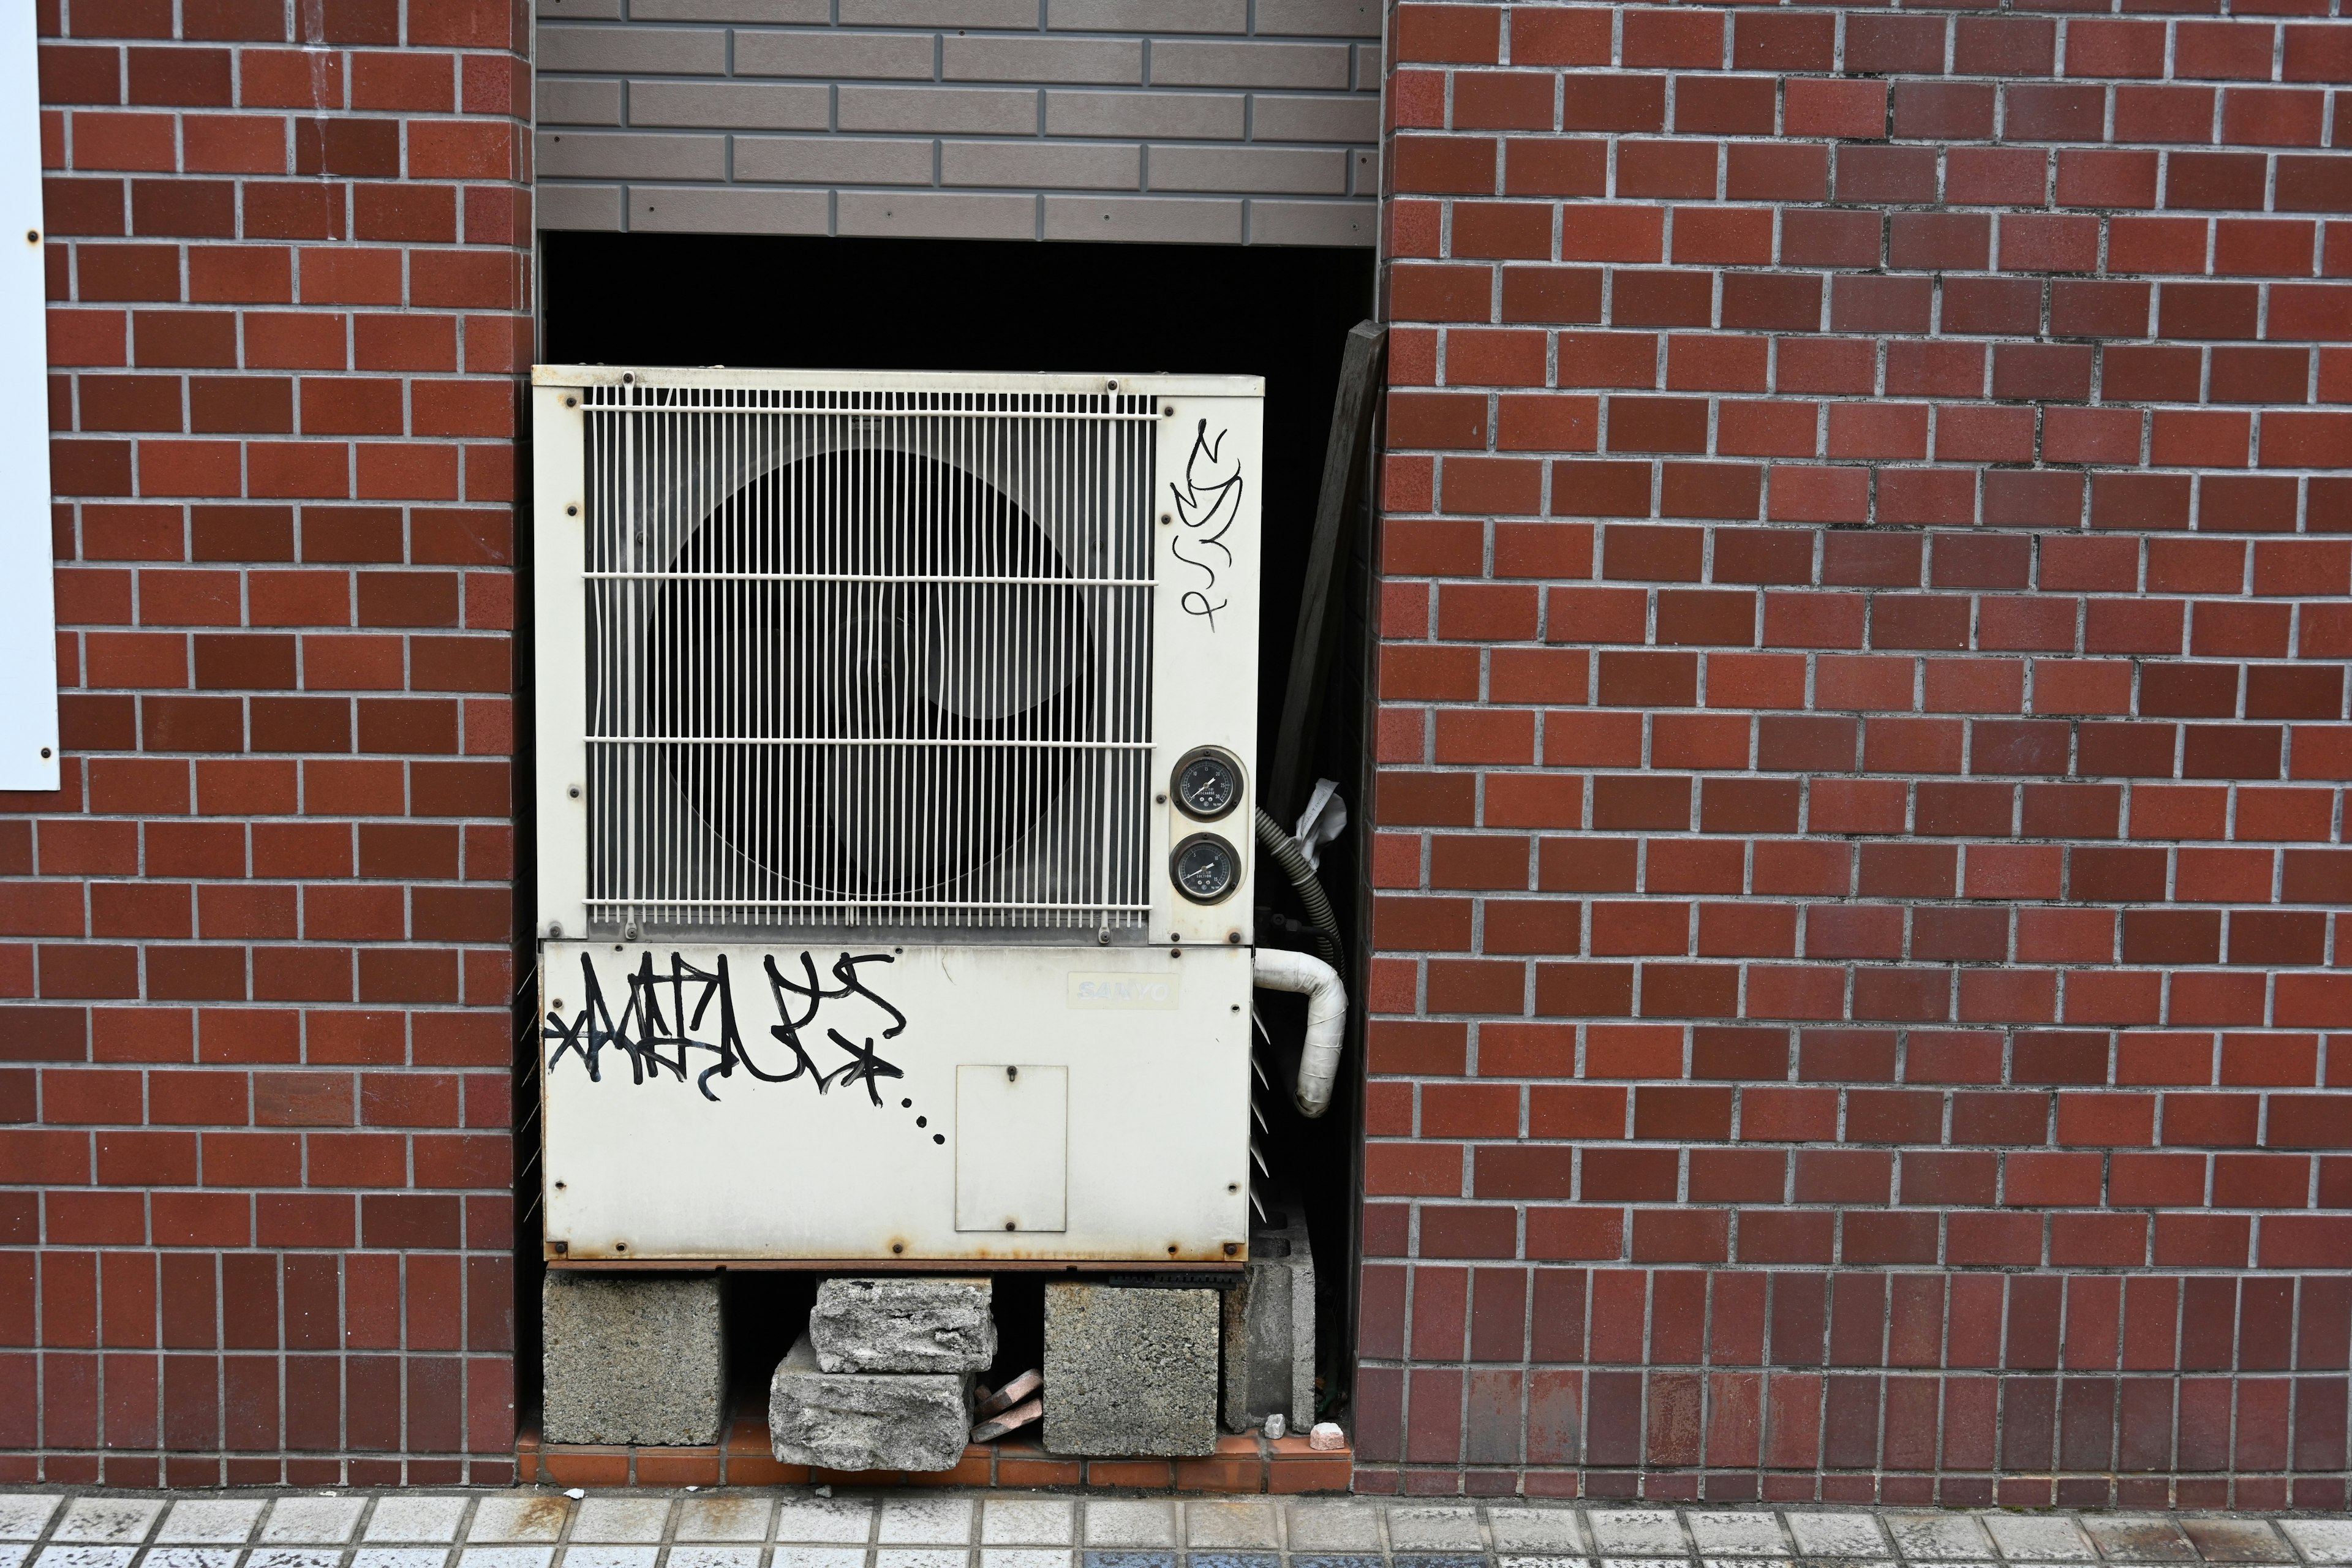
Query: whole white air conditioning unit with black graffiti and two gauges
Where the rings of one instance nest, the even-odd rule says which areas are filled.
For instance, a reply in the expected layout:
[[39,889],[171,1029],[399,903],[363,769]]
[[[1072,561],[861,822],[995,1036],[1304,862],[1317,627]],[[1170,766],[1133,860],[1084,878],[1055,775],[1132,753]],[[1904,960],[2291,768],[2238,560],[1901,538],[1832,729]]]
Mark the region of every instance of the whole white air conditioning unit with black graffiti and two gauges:
[[1244,1258],[1263,383],[532,383],[548,1258]]

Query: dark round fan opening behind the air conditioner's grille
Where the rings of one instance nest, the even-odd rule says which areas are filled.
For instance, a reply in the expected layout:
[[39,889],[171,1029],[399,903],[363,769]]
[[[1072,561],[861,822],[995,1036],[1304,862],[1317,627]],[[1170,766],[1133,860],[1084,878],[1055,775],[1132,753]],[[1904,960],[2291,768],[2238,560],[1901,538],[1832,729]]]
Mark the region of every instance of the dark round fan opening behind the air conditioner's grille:
[[788,898],[955,898],[1087,759],[1011,745],[1096,733],[1094,628],[1054,538],[967,468],[809,454],[720,501],[663,569],[786,578],[656,585],[640,668],[652,733],[795,741],[663,748]]

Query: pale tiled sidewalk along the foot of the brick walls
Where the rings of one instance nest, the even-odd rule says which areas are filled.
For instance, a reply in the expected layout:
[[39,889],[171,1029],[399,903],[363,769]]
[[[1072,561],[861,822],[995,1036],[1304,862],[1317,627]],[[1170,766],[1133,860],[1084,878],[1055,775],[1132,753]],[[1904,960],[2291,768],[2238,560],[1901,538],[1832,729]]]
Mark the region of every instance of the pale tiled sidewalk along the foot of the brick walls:
[[[1075,1554],[1084,1554],[1073,1563]],[[1284,1561],[1287,1559],[1287,1561]],[[2352,1563],[2251,1514],[729,1493],[0,1493],[0,1568],[2072,1568]]]

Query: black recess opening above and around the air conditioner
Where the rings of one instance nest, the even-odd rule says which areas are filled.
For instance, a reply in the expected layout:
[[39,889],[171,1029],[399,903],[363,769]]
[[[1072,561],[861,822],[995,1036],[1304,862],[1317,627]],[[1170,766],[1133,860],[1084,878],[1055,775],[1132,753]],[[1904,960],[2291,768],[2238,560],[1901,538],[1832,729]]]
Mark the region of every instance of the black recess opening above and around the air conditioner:
[[[1322,484],[1341,343],[1374,306],[1374,259],[1359,249],[1150,244],[1009,244],[976,240],[828,240],[753,235],[541,235],[541,360],[550,364],[739,364],[795,369],[1204,371],[1265,376],[1265,480],[1258,632],[1261,759],[1289,670],[1301,574]],[[1352,825],[1324,853],[1324,882],[1350,943],[1369,929],[1355,875],[1364,644],[1362,559],[1334,585],[1348,632],[1324,701],[1317,771],[1341,780]],[[1352,571],[1350,571],[1352,567]],[[1312,773],[1310,773],[1312,778]],[[1303,802],[1268,802],[1277,818]],[[1296,914],[1287,896],[1275,900]],[[1362,954],[1350,945],[1350,985]],[[1296,1065],[1298,1009],[1265,997],[1268,1025]],[[1362,1039],[1350,1032],[1331,1112],[1303,1121],[1277,1079],[1263,1143],[1308,1213],[1317,1272],[1324,1403],[1345,1399],[1355,1363],[1355,1185],[1362,1145]],[[536,1121],[520,1121],[536,1138]],[[532,1211],[524,1194],[524,1211]],[[536,1227],[527,1227],[524,1300],[536,1324]],[[1037,1363],[1042,1281],[1000,1274],[997,1378]],[[814,1284],[729,1272],[729,1359],[739,1410],[764,1408],[767,1373],[807,1314]],[[1018,1366],[1014,1363],[1018,1361]],[[524,1387],[536,1385],[524,1368]],[[753,1403],[743,1403],[753,1401]]]

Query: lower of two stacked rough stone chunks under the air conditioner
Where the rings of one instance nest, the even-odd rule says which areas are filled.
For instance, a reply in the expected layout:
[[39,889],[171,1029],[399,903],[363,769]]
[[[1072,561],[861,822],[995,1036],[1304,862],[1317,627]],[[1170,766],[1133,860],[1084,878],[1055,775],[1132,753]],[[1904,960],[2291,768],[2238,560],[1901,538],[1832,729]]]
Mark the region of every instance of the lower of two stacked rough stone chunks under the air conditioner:
[[786,1465],[955,1469],[971,1436],[971,1373],[828,1373],[800,1335],[767,1385],[767,1436]]

